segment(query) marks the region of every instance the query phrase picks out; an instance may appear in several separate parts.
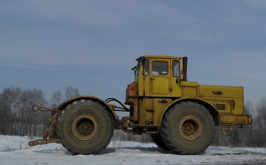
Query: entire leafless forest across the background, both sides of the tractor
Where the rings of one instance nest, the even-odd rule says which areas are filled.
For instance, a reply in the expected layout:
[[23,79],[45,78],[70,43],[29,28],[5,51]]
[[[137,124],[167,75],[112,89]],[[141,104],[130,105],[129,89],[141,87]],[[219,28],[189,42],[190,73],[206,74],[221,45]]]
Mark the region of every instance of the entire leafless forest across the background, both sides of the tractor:
[[[63,101],[80,96],[79,90],[67,87],[64,96],[61,91],[53,93],[47,101],[44,92],[38,89],[23,90],[21,87],[4,88],[0,92],[0,135],[42,137],[47,127],[49,112],[33,112],[32,105],[55,108]],[[215,127],[215,137],[211,145],[229,147],[266,147],[266,98],[257,103],[245,101],[245,114],[252,114],[253,124],[239,129],[233,126],[233,135],[223,135],[221,126]],[[121,118],[121,117],[120,117]],[[113,140],[153,142],[149,134],[131,135],[115,130]]]

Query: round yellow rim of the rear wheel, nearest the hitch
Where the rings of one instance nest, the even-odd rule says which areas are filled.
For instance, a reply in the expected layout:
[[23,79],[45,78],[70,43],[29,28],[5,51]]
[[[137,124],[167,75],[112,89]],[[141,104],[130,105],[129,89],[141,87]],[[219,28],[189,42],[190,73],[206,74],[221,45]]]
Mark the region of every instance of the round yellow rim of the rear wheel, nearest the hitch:
[[89,114],[82,114],[72,122],[72,132],[80,140],[93,138],[98,131],[96,119]]

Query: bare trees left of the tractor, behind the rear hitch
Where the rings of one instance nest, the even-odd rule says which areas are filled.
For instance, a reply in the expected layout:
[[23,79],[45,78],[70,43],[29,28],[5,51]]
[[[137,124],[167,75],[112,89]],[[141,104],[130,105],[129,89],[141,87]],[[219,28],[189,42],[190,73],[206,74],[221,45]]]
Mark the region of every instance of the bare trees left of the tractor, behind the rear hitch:
[[65,90],[65,98],[61,91],[57,91],[48,102],[43,91],[36,88],[4,88],[0,93],[0,135],[42,136],[51,113],[33,112],[31,107],[37,104],[55,108],[63,100],[79,95],[79,90],[70,86]]

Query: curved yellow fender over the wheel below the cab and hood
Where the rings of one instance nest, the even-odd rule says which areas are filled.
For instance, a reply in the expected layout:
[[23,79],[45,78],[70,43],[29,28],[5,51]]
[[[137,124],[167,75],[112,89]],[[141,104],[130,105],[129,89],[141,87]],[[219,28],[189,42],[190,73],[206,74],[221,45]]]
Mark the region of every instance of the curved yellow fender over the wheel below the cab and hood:
[[211,103],[202,100],[200,98],[190,98],[190,97],[181,97],[179,99],[174,100],[171,104],[169,104],[163,111],[162,116],[160,117],[160,121],[159,123],[162,122],[163,116],[166,113],[166,111],[168,111],[169,108],[173,107],[175,104],[179,104],[182,101],[192,101],[192,102],[197,102],[203,106],[205,106],[206,109],[208,109],[210,111],[210,114],[213,116],[214,122],[215,124],[219,124],[220,122],[220,113],[218,112],[218,110],[216,109],[215,106],[213,106]]

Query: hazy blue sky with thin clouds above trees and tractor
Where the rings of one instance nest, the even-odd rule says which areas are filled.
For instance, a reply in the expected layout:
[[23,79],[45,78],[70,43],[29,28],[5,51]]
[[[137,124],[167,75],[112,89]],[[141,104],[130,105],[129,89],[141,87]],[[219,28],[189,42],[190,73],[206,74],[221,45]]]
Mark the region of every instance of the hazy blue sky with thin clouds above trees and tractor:
[[188,57],[188,80],[265,96],[266,1],[0,1],[0,90],[41,89],[47,100],[125,100],[142,55]]

